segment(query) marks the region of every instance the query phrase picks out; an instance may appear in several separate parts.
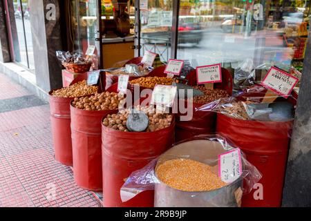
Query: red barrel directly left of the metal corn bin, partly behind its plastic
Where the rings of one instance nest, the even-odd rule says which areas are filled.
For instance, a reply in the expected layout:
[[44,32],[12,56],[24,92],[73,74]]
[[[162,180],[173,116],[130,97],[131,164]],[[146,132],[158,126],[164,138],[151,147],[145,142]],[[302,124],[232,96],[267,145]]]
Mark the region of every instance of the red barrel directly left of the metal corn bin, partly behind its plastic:
[[[106,116],[104,116],[106,117]],[[122,203],[120,189],[133,171],[142,169],[174,143],[175,123],[150,133],[115,131],[102,125],[104,206],[153,207],[154,191],[144,191]]]

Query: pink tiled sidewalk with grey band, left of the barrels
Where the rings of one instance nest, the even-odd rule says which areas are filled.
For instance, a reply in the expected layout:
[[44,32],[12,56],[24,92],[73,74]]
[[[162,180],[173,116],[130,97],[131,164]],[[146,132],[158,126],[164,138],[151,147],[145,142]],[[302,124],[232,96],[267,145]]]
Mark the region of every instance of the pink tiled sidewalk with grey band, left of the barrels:
[[0,73],[0,207],[99,207],[54,160],[46,102]]

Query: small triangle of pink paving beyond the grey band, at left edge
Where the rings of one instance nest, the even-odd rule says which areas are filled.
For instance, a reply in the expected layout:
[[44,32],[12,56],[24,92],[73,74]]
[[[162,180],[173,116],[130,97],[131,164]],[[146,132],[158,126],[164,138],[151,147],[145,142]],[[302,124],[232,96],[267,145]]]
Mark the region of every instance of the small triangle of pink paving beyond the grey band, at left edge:
[[10,99],[30,95],[28,90],[0,73],[0,99]]

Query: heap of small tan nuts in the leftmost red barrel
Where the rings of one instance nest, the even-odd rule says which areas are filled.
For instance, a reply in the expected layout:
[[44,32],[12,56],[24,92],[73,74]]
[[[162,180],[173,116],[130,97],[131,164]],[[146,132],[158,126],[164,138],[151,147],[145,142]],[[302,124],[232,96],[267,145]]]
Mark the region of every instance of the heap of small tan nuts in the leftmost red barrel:
[[92,95],[98,90],[97,86],[88,86],[86,80],[79,81],[72,86],[54,90],[52,95],[55,97],[81,97],[86,95]]

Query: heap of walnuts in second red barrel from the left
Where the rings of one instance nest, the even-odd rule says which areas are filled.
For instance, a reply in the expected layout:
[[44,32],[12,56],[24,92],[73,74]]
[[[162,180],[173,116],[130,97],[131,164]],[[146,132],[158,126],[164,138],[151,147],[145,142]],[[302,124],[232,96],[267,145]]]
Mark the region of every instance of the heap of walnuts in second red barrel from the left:
[[108,91],[95,93],[91,97],[75,97],[73,106],[86,111],[107,111],[116,110],[119,105],[124,104],[124,95]]

